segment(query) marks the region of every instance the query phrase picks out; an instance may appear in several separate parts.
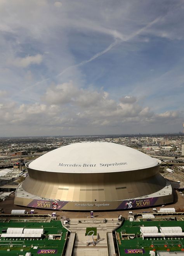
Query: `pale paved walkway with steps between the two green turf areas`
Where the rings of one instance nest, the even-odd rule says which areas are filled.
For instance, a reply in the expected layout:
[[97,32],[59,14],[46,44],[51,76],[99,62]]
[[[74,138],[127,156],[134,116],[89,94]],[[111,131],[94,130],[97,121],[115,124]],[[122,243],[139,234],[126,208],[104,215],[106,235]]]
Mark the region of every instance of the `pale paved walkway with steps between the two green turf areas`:
[[[73,251],[73,256],[109,256],[115,255],[114,243],[112,231],[119,225],[118,219],[107,219],[107,222],[103,222],[104,219],[70,219],[68,229],[74,233],[76,232],[76,240]],[[89,245],[87,246],[88,237],[85,236],[87,227],[97,228],[97,240],[95,246],[92,241],[92,237],[89,237]]]

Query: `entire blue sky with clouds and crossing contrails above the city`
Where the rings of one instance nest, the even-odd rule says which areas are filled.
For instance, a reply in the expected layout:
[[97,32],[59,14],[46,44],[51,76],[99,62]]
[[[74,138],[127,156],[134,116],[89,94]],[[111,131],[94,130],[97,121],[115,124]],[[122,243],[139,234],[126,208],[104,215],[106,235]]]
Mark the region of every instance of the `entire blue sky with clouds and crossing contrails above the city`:
[[0,0],[0,136],[183,122],[183,0]]

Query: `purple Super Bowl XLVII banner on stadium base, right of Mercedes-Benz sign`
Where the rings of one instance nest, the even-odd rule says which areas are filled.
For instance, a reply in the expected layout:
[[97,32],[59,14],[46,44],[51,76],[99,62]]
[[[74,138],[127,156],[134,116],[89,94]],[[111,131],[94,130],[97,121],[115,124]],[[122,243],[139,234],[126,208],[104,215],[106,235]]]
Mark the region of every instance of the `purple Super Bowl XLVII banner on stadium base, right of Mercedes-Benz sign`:
[[157,199],[158,197],[125,200],[118,206],[117,209],[135,209],[141,207],[150,207],[156,203]]

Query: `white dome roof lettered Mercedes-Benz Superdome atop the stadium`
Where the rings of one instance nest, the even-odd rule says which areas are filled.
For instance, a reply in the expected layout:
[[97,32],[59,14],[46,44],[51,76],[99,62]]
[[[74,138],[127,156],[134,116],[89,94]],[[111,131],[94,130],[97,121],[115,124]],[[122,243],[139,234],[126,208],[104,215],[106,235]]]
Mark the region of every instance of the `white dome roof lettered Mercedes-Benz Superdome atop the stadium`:
[[29,164],[29,168],[59,173],[125,172],[154,167],[160,160],[109,142],[82,142],[54,149]]

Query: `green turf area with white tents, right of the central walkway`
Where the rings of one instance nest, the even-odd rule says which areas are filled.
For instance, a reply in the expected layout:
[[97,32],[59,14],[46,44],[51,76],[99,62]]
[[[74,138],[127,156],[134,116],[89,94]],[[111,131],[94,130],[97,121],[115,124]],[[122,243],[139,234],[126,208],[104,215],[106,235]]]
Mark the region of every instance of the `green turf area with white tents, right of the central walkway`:
[[[184,238],[183,240],[180,238],[171,240],[171,238],[168,240],[164,240],[162,238],[155,238],[155,240],[152,238],[142,239],[142,237],[139,237],[140,235],[140,226],[157,226],[158,229],[160,227],[169,227],[169,226],[180,226],[182,230],[184,231],[184,221],[140,221],[140,222],[130,222],[130,221],[124,221],[123,225],[118,228],[116,231],[120,235],[121,245],[118,243],[118,247],[120,250],[121,256],[126,256],[125,249],[143,249],[144,248],[144,256],[149,256],[149,251],[155,249],[156,251],[167,251],[167,249],[170,249],[170,251],[181,251],[181,249],[184,249]],[[134,239],[123,239],[121,237],[121,231],[122,233],[129,233],[129,234],[135,234]],[[118,242],[118,241],[117,241]],[[151,247],[152,242],[154,244],[154,247]],[[179,245],[180,244],[180,245]],[[167,247],[165,246],[167,245]],[[142,254],[141,251],[138,251],[137,254]]]

